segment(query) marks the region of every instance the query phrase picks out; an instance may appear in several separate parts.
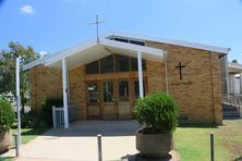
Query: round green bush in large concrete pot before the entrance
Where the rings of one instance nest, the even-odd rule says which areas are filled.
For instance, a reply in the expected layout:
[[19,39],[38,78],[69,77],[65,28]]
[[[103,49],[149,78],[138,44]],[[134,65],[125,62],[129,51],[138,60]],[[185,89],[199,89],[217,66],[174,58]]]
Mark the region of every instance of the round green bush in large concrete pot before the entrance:
[[136,149],[141,156],[162,158],[173,148],[173,132],[178,124],[174,100],[167,94],[153,94],[138,99],[135,115],[141,128],[136,133]]

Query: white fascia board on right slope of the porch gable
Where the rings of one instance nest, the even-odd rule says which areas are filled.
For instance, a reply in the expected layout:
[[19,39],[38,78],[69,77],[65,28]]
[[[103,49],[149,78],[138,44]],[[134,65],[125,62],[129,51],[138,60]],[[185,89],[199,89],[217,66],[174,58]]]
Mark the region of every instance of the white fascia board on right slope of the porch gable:
[[143,47],[138,45],[132,45],[132,44],[120,42],[120,41],[114,41],[114,40],[108,40],[104,38],[100,39],[100,45],[121,48],[121,49],[128,49],[131,51],[141,51],[141,52],[150,53],[150,54],[159,55],[159,57],[162,57],[162,53],[164,53],[164,50],[161,49],[156,49],[156,48],[150,48],[150,47],[145,47],[145,46]]

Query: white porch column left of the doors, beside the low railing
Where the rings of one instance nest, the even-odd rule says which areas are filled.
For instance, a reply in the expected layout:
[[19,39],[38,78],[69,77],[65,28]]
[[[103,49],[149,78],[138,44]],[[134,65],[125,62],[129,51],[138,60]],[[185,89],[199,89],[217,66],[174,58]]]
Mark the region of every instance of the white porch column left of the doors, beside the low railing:
[[69,128],[69,114],[68,114],[68,74],[66,61],[62,59],[62,89],[63,89],[63,109],[64,109],[64,128]]

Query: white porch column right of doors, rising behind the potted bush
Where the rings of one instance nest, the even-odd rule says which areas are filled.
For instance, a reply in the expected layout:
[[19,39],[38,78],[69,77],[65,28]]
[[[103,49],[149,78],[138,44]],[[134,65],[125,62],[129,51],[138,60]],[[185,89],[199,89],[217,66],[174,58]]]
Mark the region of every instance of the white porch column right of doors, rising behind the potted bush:
[[137,69],[138,69],[138,90],[140,97],[144,98],[144,86],[143,86],[143,69],[142,69],[142,54],[137,51]]

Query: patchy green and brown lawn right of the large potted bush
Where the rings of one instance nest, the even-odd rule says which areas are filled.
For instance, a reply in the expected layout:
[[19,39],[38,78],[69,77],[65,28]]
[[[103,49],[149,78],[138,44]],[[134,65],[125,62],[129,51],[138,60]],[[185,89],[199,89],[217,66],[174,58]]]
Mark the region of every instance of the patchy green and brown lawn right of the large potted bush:
[[210,160],[210,132],[215,134],[215,160],[242,161],[242,120],[223,121],[218,127],[178,127],[174,147],[181,160]]

